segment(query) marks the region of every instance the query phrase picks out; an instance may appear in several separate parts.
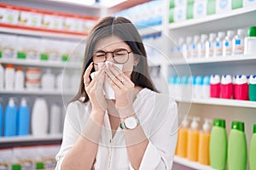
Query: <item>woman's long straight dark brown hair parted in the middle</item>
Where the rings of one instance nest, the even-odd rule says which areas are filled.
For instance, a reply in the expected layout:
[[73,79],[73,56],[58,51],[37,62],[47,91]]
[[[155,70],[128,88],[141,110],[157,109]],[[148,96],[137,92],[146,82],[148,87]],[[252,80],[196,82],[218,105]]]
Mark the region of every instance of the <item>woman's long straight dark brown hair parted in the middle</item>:
[[[81,97],[85,97],[84,102],[89,100],[84,89],[84,71],[92,62],[96,43],[102,38],[109,36],[116,36],[123,40],[131,48],[135,59],[138,59],[137,65],[133,67],[133,71],[131,72],[131,81],[135,86],[149,88],[156,92],[154,84],[149,76],[147,54],[143,46],[142,38],[136,27],[131,24],[130,20],[127,20],[124,17],[108,16],[98,21],[86,39],[87,45],[85,48],[79,91],[72,101],[78,100]],[[95,71],[94,68],[92,71]]]

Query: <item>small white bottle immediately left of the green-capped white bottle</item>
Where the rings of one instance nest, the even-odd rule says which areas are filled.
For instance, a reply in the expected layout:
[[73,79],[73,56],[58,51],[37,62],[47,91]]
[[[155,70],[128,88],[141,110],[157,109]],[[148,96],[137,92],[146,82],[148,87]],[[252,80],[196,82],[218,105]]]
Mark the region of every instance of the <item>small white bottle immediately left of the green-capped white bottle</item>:
[[227,31],[227,36],[224,39],[223,43],[223,56],[231,55],[232,54],[232,40],[236,35],[235,31]]

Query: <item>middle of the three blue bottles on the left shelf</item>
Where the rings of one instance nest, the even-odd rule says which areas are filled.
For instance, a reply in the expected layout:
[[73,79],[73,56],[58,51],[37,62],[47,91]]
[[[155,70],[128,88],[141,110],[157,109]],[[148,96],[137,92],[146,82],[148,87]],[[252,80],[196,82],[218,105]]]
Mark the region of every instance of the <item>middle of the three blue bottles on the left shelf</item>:
[[16,134],[17,109],[15,100],[9,99],[9,104],[5,108],[4,114],[4,136],[15,136]]

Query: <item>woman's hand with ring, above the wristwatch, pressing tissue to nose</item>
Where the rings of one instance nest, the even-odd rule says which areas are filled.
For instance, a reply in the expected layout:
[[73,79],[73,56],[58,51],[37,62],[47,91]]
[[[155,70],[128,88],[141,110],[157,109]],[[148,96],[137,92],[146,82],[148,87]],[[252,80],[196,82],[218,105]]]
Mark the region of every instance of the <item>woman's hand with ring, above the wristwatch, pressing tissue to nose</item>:
[[136,99],[137,89],[130,78],[120,71],[115,65],[108,63],[106,66],[107,81],[115,94],[115,108],[120,117],[134,114],[133,101]]

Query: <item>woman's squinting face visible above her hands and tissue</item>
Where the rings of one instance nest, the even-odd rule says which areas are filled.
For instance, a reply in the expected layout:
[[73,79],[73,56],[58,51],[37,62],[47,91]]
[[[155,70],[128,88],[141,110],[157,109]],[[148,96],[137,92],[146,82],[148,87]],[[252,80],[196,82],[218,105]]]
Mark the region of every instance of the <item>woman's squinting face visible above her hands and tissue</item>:
[[[93,60],[95,62],[95,60],[97,59],[96,54],[97,54],[97,56],[101,56],[101,54],[104,54],[104,52],[113,52],[114,50],[116,51],[115,55],[117,57],[119,57],[118,55],[122,54],[122,51],[124,51],[124,50],[122,50],[119,52],[119,49],[126,49],[127,52],[131,52],[131,48],[129,47],[129,45],[127,45],[119,37],[116,37],[116,36],[104,37],[101,40],[99,40],[98,42],[96,42],[96,47],[94,49],[95,55],[93,56]],[[136,59],[134,59],[134,54],[132,52],[128,55],[129,55],[128,59],[125,58],[125,60],[124,60],[124,62],[125,61],[126,62],[121,65],[123,65],[122,71],[125,73],[125,75],[127,77],[131,78],[131,72],[133,69],[133,65],[136,65],[137,61],[136,61]],[[113,53],[107,53],[106,61],[116,63],[116,61],[113,59]],[[94,68],[96,71],[99,70],[98,65],[94,65]]]

